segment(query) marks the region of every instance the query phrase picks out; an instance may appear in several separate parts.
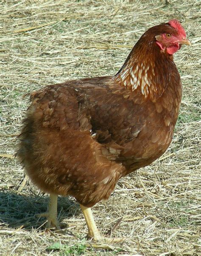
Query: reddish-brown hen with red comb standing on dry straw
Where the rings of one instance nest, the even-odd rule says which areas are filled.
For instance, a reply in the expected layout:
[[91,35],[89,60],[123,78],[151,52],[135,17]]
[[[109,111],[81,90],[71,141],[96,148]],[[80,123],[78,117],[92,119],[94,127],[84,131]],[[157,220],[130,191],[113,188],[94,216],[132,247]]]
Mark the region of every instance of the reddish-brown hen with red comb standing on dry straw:
[[91,209],[117,181],[151,164],[170,145],[181,103],[173,53],[190,45],[179,21],[146,31],[120,71],[49,85],[31,94],[17,156],[41,191],[50,193],[48,227],[60,229],[57,196],[74,196],[101,240]]

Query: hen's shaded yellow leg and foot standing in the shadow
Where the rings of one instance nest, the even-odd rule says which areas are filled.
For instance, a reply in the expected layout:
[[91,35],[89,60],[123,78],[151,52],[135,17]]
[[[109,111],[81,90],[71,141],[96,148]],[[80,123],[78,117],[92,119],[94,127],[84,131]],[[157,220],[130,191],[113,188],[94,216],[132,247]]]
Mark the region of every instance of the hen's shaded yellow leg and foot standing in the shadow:
[[39,213],[36,216],[47,218],[46,228],[56,228],[56,230],[61,230],[59,221],[57,219],[57,198],[58,195],[50,194],[50,201],[47,212]]

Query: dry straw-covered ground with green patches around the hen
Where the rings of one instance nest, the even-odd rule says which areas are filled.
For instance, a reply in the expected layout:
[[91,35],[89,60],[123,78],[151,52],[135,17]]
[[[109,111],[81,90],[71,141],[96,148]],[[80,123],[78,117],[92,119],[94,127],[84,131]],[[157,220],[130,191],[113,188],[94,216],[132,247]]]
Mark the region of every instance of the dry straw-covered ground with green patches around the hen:
[[[200,255],[201,31],[196,0],[6,0],[0,3],[0,255]],[[112,75],[149,27],[178,18],[192,47],[175,62],[183,100],[168,151],[123,178],[108,202],[93,208],[101,232],[128,237],[122,245],[85,239],[87,227],[74,199],[59,198],[65,235],[45,233],[47,208],[31,182],[17,191],[24,171],[11,155],[28,106],[23,95],[78,77]],[[115,223],[122,218],[117,228]],[[111,231],[112,230],[112,231]],[[54,250],[51,247],[61,250]]]

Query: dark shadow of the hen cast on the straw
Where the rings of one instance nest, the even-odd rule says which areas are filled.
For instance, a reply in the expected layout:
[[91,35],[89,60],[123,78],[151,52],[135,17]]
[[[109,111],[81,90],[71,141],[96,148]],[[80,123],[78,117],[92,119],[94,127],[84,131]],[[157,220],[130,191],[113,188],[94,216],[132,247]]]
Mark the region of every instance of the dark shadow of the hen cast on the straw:
[[[45,218],[36,216],[47,210],[49,202],[48,195],[26,196],[14,193],[12,191],[0,192],[0,225],[8,225],[8,228],[18,229],[20,227],[26,230],[45,229]],[[79,205],[69,198],[58,198],[58,219],[62,224],[62,219],[77,216],[81,213]]]

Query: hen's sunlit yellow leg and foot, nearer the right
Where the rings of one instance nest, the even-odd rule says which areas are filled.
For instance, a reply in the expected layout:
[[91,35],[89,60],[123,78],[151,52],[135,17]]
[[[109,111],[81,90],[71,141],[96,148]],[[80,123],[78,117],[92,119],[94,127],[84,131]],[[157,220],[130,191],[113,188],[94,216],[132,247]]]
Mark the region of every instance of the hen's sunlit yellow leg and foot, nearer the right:
[[84,214],[84,218],[87,222],[89,238],[92,238],[93,240],[98,242],[108,242],[108,243],[123,242],[125,240],[124,238],[110,238],[110,237],[101,236],[95,224],[91,208],[85,207],[84,205],[80,205],[80,207],[81,207],[82,213]]

